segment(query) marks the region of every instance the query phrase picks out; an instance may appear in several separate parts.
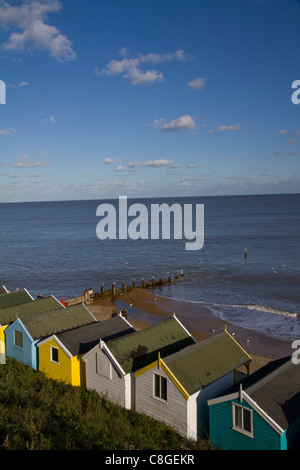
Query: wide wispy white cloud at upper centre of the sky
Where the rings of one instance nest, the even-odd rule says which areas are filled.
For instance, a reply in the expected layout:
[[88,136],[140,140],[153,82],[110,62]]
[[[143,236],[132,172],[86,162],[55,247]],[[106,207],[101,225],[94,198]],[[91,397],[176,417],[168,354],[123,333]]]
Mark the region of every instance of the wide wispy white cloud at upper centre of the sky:
[[[128,55],[127,48],[122,48],[120,54],[123,59],[111,60],[105,69],[102,70],[102,73],[108,76],[122,74],[122,78],[127,79],[134,86],[149,85],[154,82],[162,82],[164,80],[162,72],[157,70],[142,70],[141,66],[143,64],[158,64],[170,62],[172,60],[185,61],[188,59],[183,50],[178,50],[169,54],[157,54],[155,52],[151,52],[149,54],[139,54],[134,58],[128,58],[126,57],[126,55]],[[94,73],[96,75],[101,74],[98,67],[94,69]]]

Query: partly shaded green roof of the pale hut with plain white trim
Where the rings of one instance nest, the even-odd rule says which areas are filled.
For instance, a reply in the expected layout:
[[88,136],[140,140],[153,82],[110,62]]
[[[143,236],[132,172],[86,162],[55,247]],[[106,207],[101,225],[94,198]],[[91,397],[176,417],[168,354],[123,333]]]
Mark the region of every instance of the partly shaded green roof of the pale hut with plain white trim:
[[161,358],[179,351],[195,341],[175,318],[157,323],[105,344],[125,373],[134,372]]

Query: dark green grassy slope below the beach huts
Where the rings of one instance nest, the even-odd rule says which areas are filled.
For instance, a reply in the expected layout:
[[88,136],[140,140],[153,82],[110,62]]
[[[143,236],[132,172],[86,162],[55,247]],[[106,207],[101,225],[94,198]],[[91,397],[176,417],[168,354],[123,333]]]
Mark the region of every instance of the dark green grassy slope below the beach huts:
[[0,450],[201,450],[170,427],[96,392],[48,379],[13,359],[0,365]]

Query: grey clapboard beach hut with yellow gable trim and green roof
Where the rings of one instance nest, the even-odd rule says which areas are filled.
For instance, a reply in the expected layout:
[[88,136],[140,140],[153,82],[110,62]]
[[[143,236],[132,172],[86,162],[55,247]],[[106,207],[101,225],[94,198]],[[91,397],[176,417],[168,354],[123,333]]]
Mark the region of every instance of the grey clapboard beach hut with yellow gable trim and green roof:
[[[236,380],[251,357],[225,330],[135,372],[135,410],[164,421],[184,437],[207,437],[207,399]],[[243,367],[244,368],[244,367]]]

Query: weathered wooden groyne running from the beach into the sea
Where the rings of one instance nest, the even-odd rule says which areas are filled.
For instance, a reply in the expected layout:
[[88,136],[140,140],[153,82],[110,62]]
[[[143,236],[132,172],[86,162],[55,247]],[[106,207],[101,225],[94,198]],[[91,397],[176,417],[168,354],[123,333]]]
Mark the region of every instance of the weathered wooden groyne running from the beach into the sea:
[[117,288],[116,283],[114,282],[110,289],[105,289],[105,285],[102,284],[100,288],[100,292],[94,292],[93,289],[85,289],[83,295],[79,297],[74,297],[72,299],[66,300],[67,307],[71,307],[72,305],[82,304],[84,302],[86,305],[93,303],[95,300],[100,299],[107,299],[107,298],[117,298],[120,294],[125,292],[130,292],[133,289],[155,289],[157,287],[162,287],[167,284],[171,284],[174,281],[183,278],[183,271],[180,271],[180,274],[176,274],[174,279],[171,276],[168,279],[164,280],[163,278],[159,278],[158,280],[152,276],[150,281],[145,281],[144,278],[141,280],[141,284],[137,284],[136,280],[134,279],[131,286],[126,286],[125,282],[122,282],[122,286]]

